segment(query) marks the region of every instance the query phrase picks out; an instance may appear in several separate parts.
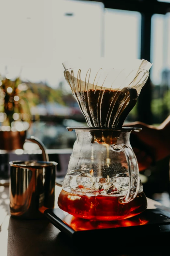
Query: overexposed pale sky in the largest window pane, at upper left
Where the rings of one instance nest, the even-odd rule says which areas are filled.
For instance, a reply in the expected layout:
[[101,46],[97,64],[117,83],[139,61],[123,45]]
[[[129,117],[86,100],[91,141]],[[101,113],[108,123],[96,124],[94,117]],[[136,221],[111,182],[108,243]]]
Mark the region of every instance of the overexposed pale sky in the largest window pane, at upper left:
[[7,66],[11,78],[21,71],[22,79],[56,88],[64,78],[64,60],[100,56],[102,3],[2,0],[1,5],[1,74]]

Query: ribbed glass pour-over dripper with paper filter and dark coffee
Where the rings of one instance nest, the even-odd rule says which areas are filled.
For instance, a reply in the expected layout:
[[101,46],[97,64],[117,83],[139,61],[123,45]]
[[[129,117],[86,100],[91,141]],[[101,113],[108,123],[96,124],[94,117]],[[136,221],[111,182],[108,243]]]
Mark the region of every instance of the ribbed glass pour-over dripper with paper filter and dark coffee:
[[[63,66],[65,79],[89,127],[121,127],[149,77],[152,64],[147,60],[99,58],[66,61]],[[123,89],[126,87],[136,89],[129,111],[125,109],[132,97],[129,90]]]

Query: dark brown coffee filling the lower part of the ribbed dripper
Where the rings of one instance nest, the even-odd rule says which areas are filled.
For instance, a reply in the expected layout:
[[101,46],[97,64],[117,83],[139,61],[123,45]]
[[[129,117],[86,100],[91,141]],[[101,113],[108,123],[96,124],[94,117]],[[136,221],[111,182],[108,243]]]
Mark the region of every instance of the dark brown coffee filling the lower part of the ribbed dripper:
[[[128,105],[129,94],[118,90],[88,90],[82,91],[79,100],[81,110],[91,127],[116,127],[122,111]],[[78,96],[76,94],[76,96]]]

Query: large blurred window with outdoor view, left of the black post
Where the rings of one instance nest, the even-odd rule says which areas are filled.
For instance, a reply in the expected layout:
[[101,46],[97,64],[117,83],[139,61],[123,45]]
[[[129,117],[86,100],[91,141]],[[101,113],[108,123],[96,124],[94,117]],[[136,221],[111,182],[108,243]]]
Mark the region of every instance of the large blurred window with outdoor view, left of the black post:
[[2,0],[2,5],[0,74],[20,76],[31,87],[36,103],[31,112],[40,117],[28,136],[48,149],[72,147],[76,135],[66,126],[87,124],[62,62],[77,56],[140,58],[141,14],[93,1]]

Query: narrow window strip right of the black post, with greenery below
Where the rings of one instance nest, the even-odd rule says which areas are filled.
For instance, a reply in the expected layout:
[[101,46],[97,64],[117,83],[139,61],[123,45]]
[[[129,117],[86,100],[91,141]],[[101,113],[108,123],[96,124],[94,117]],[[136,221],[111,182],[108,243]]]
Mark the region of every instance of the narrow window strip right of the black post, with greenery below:
[[170,114],[170,14],[154,14],[151,19],[151,62],[153,123],[160,124]]

